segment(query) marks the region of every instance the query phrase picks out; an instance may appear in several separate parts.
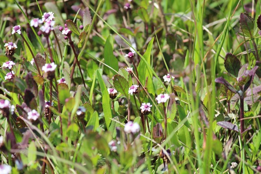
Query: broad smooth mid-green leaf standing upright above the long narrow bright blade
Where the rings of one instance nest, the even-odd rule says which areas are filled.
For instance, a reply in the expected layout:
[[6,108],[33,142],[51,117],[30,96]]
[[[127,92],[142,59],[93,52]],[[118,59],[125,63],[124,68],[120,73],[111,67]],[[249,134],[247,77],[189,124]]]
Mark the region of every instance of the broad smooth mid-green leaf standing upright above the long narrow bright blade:
[[[111,67],[112,69],[114,69],[116,71],[119,70],[118,60],[113,55],[113,40],[112,40],[111,35],[108,36],[108,38],[105,42],[103,56],[104,56],[104,61],[105,61],[106,65],[108,65],[109,67]],[[117,74],[116,72],[114,72],[111,69],[110,69],[110,71],[112,72],[113,75]]]

